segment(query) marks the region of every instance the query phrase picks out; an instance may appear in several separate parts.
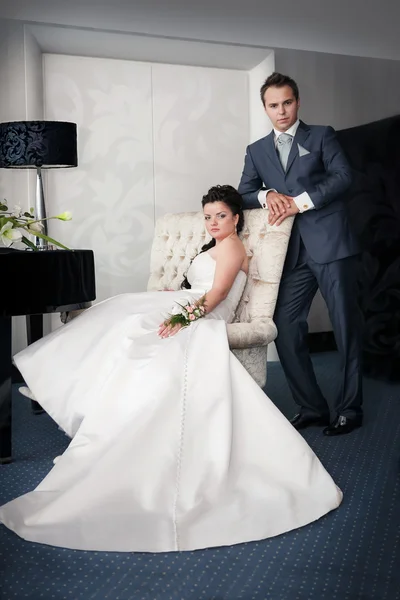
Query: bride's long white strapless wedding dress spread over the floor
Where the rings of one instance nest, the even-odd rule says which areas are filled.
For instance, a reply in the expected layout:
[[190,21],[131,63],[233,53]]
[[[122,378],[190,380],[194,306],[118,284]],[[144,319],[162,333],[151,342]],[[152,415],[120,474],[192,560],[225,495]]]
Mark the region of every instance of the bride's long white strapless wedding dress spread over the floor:
[[15,357],[73,439],[32,492],[0,509],[22,538],[81,550],[194,550],[260,540],[337,508],[342,494],[298,432],[229,351],[241,271],[206,318],[157,330],[174,301],[210,289],[101,302]]

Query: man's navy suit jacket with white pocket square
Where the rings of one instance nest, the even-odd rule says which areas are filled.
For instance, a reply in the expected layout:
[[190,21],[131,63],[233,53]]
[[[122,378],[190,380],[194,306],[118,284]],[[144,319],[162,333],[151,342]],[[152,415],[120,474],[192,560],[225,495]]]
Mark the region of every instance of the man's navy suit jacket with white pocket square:
[[293,267],[300,237],[311,258],[320,264],[358,254],[344,196],[350,184],[351,168],[332,127],[300,121],[286,173],[275,149],[273,131],[247,147],[239,193],[244,208],[260,208],[261,189],[274,188],[289,196],[309,194],[315,210],[295,217],[286,258],[286,266]]

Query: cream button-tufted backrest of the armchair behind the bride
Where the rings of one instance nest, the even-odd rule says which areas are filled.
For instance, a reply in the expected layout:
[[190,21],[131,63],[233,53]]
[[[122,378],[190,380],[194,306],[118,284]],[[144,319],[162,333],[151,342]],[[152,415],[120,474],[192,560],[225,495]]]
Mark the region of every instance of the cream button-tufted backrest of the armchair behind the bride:
[[[249,277],[235,322],[272,319],[293,218],[270,226],[263,209],[244,211],[240,235],[250,258]],[[156,223],[148,290],[179,289],[191,260],[209,241],[202,212],[166,214]]]

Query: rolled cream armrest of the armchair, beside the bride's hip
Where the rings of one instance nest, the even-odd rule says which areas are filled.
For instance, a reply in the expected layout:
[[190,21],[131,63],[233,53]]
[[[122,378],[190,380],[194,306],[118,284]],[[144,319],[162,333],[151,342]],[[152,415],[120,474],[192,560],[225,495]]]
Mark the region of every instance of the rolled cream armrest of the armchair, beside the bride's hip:
[[272,319],[251,323],[229,323],[228,342],[231,349],[268,346],[278,335]]

